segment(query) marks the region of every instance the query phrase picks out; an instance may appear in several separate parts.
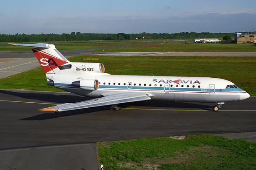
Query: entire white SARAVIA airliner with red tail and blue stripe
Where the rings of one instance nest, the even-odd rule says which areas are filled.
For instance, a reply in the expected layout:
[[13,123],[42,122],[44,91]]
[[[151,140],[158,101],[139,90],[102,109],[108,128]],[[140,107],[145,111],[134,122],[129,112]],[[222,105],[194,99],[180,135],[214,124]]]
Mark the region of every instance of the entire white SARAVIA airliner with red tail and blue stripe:
[[216,102],[218,111],[225,102],[250,97],[234,83],[209,77],[110,75],[102,63],[68,61],[52,44],[11,44],[36,47],[33,52],[46,73],[47,85],[95,99],[44,108],[66,111],[110,105],[120,110],[123,103],[146,100]]

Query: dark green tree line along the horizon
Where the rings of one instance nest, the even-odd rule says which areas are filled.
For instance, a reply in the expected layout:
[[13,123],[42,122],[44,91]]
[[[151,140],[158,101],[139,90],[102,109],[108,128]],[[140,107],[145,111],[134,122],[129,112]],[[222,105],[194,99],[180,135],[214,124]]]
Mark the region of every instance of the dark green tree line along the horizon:
[[87,40],[160,40],[160,39],[196,39],[196,38],[220,38],[228,35],[233,37],[235,33],[209,33],[209,32],[180,32],[180,33],[139,33],[139,34],[97,34],[72,32],[71,34],[0,34],[0,42],[46,42],[46,41],[87,41]]

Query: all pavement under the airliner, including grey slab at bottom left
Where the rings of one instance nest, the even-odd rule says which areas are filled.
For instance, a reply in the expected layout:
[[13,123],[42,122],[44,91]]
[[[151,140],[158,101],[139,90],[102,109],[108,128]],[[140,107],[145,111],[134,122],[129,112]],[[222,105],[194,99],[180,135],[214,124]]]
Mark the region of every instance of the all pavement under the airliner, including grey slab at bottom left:
[[226,103],[218,112],[211,103],[167,101],[131,103],[120,111],[38,111],[86,99],[65,92],[0,90],[0,167],[97,170],[97,141],[214,134],[256,142],[256,97]]

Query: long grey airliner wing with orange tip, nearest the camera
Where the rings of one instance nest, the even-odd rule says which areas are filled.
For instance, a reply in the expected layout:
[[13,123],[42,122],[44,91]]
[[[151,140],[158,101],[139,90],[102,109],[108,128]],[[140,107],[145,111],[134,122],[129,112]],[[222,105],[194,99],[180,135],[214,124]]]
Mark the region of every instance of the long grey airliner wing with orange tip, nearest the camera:
[[47,107],[42,110],[43,111],[67,111],[67,110],[84,109],[84,108],[97,107],[97,106],[103,106],[103,105],[115,105],[120,103],[128,103],[128,102],[144,101],[144,100],[151,100],[151,98],[146,94],[122,93],[122,94],[108,95],[101,98],[81,101],[77,103],[65,103],[62,105]]

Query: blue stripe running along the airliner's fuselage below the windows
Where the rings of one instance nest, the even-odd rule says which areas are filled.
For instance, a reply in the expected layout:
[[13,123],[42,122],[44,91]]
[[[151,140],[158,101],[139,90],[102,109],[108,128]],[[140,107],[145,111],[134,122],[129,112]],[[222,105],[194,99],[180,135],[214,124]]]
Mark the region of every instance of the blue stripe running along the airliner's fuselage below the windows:
[[[76,88],[71,84],[66,84],[66,83],[54,83],[55,86],[61,86],[61,87],[69,87],[69,88]],[[131,88],[130,88],[131,87]],[[89,88],[93,88],[93,87],[89,87]],[[99,85],[99,89],[106,89],[106,90],[157,90],[157,91],[164,91],[164,87],[148,87],[148,86],[121,86],[121,85]],[[166,91],[182,91],[182,92],[209,92],[209,89],[202,89],[202,88],[173,88],[170,87],[170,90],[168,90],[168,88],[166,88]],[[215,89],[211,90],[210,92],[215,92],[215,93],[219,93],[219,92],[242,92],[244,90],[237,88],[237,89]]]

